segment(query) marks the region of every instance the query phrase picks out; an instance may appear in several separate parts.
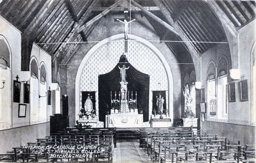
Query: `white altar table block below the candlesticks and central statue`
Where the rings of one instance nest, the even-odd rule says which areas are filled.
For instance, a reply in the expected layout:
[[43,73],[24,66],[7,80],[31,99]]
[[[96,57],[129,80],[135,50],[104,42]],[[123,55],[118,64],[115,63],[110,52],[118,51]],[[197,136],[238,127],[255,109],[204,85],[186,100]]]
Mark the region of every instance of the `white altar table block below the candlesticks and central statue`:
[[114,113],[106,115],[106,128],[128,128],[128,127],[142,127],[143,114],[137,112]]

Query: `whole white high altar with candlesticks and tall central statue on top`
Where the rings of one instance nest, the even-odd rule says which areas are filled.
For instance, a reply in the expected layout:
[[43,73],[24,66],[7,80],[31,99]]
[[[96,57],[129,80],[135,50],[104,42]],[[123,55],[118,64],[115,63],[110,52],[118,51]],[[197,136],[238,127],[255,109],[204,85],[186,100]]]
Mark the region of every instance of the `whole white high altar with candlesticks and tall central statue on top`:
[[[118,127],[118,128],[127,128],[127,127],[142,127],[143,125],[143,114],[138,114],[138,109],[136,107],[137,102],[137,93],[135,92],[135,99],[133,99],[133,92],[132,92],[132,99],[129,100],[129,91],[127,89],[128,82],[126,81],[126,70],[129,67],[125,67],[123,65],[120,69],[121,74],[121,94],[119,92],[119,100],[116,99],[116,92],[115,92],[115,99],[111,99],[111,111],[109,115],[106,115],[105,124],[106,127]],[[112,92],[111,92],[112,98]]]

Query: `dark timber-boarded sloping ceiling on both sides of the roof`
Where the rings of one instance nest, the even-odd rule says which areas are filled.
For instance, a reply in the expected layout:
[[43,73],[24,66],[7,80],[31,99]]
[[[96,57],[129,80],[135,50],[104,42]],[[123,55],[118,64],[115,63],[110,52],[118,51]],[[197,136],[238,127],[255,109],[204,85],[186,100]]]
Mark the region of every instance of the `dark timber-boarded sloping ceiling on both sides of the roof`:
[[[94,27],[97,26],[104,13],[115,3],[122,0],[3,0],[0,3],[0,15],[12,23],[21,32],[31,34],[35,43],[77,42],[87,41]],[[129,2],[130,0],[123,0]],[[133,0],[132,0],[133,1]],[[182,35],[186,37],[198,54],[202,54],[213,46],[211,42],[221,42],[226,36],[221,22],[207,1],[189,0],[136,0],[132,3],[133,10],[141,12],[143,18],[151,23],[160,40],[182,41],[180,35],[175,34],[163,23],[156,21],[151,12],[166,22],[168,26],[178,24]],[[239,29],[255,18],[255,1],[216,1],[228,19]],[[134,7],[135,6],[135,7]],[[170,17],[166,16],[162,10]],[[123,12],[123,7],[116,5],[109,14]],[[132,12],[133,13],[133,12]],[[94,21],[94,17],[99,19]],[[81,26],[89,25],[78,32]],[[92,23],[91,23],[92,22]],[[90,40],[88,40],[90,41]],[[205,43],[209,42],[209,43]],[[184,42],[165,42],[180,62],[191,62],[189,48]],[[62,43],[39,45],[52,56],[52,60],[59,58],[62,64],[68,64],[70,58],[79,50],[79,43]]]

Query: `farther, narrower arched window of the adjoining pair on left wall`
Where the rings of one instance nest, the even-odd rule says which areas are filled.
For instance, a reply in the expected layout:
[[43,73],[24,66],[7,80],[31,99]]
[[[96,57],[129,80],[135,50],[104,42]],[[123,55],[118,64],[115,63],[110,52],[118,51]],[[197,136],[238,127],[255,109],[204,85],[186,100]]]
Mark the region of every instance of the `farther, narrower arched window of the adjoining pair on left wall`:
[[40,114],[39,122],[47,122],[47,83],[46,68],[44,64],[40,67]]

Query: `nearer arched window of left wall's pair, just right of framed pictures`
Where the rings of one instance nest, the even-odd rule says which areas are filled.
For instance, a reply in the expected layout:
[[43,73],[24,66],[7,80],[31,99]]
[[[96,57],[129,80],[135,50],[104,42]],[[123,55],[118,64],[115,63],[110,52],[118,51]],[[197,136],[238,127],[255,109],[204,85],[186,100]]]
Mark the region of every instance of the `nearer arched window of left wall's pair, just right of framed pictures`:
[[38,85],[38,62],[35,58],[31,59],[30,62],[30,124],[36,124],[39,122],[39,85]]

